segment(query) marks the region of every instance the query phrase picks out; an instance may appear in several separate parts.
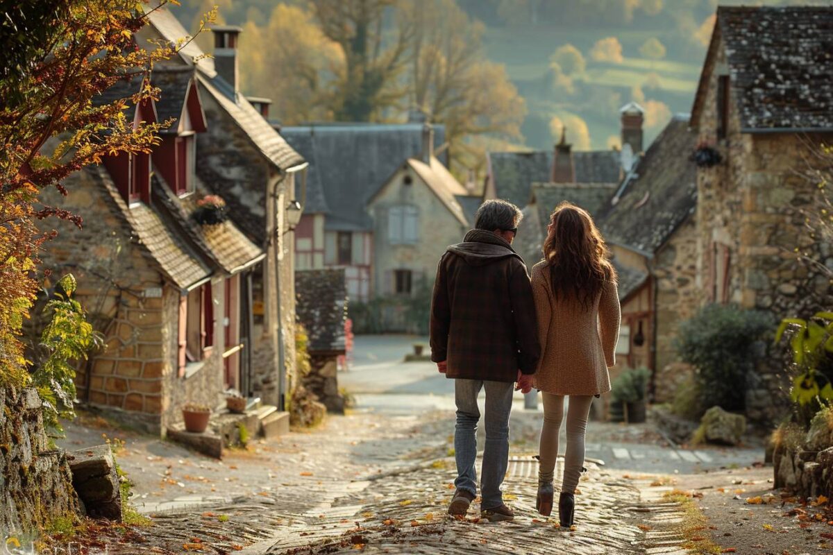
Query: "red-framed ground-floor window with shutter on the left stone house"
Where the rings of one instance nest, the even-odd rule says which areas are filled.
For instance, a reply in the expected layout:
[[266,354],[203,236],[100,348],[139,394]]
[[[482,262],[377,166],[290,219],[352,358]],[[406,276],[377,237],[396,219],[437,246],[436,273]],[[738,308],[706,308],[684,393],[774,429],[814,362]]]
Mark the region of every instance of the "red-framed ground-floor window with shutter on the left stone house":
[[202,360],[214,344],[214,303],[210,282],[182,296],[179,319],[179,364],[182,372],[185,364]]

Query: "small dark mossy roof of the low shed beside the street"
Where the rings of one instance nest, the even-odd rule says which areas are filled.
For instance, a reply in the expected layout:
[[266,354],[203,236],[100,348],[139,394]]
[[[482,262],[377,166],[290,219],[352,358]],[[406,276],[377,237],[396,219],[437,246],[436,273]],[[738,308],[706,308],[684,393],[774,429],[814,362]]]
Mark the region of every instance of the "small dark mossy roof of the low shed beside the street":
[[311,353],[345,352],[347,286],[344,269],[295,272],[298,321],[306,328]]

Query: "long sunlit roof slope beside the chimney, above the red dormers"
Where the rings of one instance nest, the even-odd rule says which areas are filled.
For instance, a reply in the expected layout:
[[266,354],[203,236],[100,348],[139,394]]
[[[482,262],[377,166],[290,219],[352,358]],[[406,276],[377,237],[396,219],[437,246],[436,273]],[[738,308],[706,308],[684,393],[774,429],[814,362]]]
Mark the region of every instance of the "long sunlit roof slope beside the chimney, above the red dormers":
[[[162,37],[169,42],[176,42],[178,39],[187,36],[187,31],[177,17],[166,8],[157,9],[149,14],[153,27],[156,28]],[[194,65],[194,57],[203,55],[202,50],[197,47],[196,42],[191,42],[186,48],[179,52],[180,57],[190,65]],[[267,160],[280,168],[287,170],[292,166],[298,166],[304,159],[297,151],[287,145],[268,121],[259,111],[247,101],[242,94],[235,94],[231,85],[220,77],[214,69],[214,63],[209,58],[203,58],[196,64],[198,68],[197,77],[199,82],[212,97],[217,99],[220,106],[228,112],[255,146],[266,156]]]

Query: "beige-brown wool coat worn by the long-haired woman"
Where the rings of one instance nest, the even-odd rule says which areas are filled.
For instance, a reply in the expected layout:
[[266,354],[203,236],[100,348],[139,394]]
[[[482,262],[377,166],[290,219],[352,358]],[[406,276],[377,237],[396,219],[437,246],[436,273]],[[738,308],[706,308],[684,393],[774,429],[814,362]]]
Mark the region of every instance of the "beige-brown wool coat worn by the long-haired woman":
[[535,387],[557,395],[600,395],[611,390],[607,369],[616,364],[621,307],[616,283],[606,281],[585,309],[577,300],[556,300],[550,268],[532,268],[532,294],[538,317],[541,359]]

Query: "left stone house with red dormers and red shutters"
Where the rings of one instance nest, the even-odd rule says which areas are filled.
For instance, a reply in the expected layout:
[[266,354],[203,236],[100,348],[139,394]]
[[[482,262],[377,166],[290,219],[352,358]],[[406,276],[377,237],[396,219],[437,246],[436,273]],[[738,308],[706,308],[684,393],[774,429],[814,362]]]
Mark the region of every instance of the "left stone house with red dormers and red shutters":
[[[159,68],[158,102],[128,108],[134,125],[177,122],[151,154],[108,157],[65,182],[46,201],[83,217],[59,223],[43,253],[57,275],[72,271],[77,296],[106,336],[106,348],[77,373],[79,397],[118,418],[162,433],[188,402],[215,407],[245,376],[252,330],[244,284],[263,250],[232,221],[201,225],[208,191],[194,172],[195,137],[207,131],[193,68]],[[119,82],[104,102],[128,98],[142,79]]]

